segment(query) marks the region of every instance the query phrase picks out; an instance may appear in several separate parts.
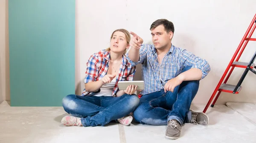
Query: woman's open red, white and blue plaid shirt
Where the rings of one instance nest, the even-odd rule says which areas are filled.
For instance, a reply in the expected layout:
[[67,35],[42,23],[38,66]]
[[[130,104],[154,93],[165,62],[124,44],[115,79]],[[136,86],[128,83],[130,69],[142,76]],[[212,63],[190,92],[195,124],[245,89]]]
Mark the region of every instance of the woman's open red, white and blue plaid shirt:
[[[110,51],[100,50],[98,53],[94,53],[90,56],[87,62],[87,70],[85,72],[86,76],[84,78],[84,83],[90,81],[98,81],[102,79],[108,72],[108,60],[110,58]],[[116,77],[116,84],[113,88],[112,95],[116,96],[118,89],[118,81],[132,81],[136,71],[136,66],[131,66],[127,61],[125,55],[122,57],[122,63],[120,64],[118,76]],[[96,91],[96,92],[99,92]],[[83,90],[81,96],[90,95],[93,92],[87,92]]]

